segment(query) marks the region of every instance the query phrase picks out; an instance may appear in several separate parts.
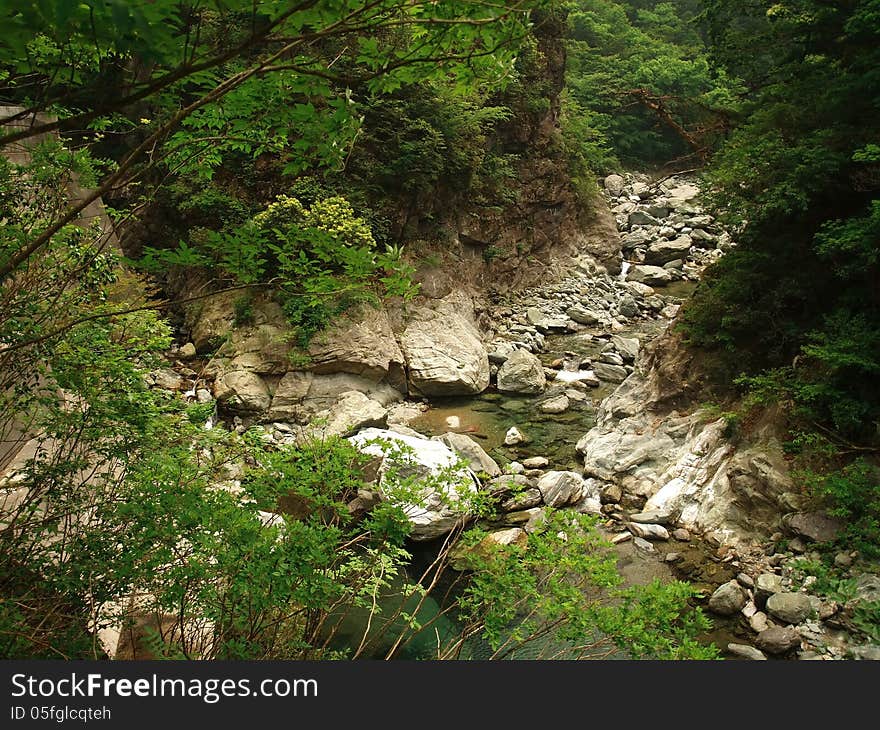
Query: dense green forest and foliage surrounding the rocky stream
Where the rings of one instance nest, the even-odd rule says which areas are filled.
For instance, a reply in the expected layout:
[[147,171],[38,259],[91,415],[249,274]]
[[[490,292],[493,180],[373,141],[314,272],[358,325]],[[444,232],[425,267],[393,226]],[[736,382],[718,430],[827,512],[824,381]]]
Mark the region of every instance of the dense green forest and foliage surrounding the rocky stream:
[[[595,516],[548,509],[499,548],[498,495],[459,484],[475,523],[414,573],[401,504],[424,475],[389,469],[373,503],[351,440],[279,447],[234,403],[218,423],[210,394],[154,387],[212,297],[235,327],[271,303],[307,369],[347,312],[406,312],[444,267],[464,279],[456,216],[482,222],[455,245],[501,281],[543,251],[533,209],[588,220],[612,173],[705,186],[737,246],[672,325],[700,398],[734,438],[773,419],[797,483],[845,521],[826,557],[880,556],[878,0],[7,0],[0,17],[0,466],[33,439],[2,481],[0,656],[99,658],[102,630],[140,622],[140,656],[167,658],[467,658],[474,637],[492,658],[548,640],[717,657],[697,591],[623,587]],[[515,244],[485,235],[505,222]]]

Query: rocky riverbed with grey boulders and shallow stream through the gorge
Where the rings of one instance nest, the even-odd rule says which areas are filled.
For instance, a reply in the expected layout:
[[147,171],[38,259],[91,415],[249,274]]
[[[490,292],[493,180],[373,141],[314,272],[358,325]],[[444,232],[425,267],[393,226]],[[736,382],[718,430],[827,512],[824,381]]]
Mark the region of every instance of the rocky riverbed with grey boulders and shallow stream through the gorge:
[[[584,255],[513,296],[451,292],[403,319],[380,310],[313,346],[308,370],[286,363],[271,305],[210,359],[205,343],[229,323],[200,312],[156,387],[215,402],[208,425],[256,424],[269,442],[403,440],[428,471],[463,457],[462,476],[498,499],[502,543],[527,539],[546,507],[599,515],[627,580],[696,584],[728,658],[878,658],[853,620],[880,599],[880,578],[840,554],[846,590],[823,585],[811,544],[839,526],[807,509],[780,444],[735,446],[723,418],[670,405],[670,381],[690,377],[670,325],[731,236],[693,180],[612,175],[604,188],[618,270]],[[407,509],[414,539],[430,541],[461,515],[426,497]]]

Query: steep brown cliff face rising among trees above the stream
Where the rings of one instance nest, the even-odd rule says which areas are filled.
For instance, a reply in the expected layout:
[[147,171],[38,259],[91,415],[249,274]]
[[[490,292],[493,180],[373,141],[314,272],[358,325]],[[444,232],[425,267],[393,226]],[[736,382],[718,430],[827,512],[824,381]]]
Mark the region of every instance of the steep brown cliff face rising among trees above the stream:
[[[466,203],[445,216],[450,246],[441,264],[422,268],[429,297],[468,285],[476,293],[506,292],[559,277],[582,253],[619,270],[620,239],[598,190],[578,193],[559,125],[565,85],[565,18],[535,19],[536,48],[514,89],[499,99],[513,117],[496,142],[517,155],[509,192],[514,202]],[[585,199],[586,197],[586,199]]]

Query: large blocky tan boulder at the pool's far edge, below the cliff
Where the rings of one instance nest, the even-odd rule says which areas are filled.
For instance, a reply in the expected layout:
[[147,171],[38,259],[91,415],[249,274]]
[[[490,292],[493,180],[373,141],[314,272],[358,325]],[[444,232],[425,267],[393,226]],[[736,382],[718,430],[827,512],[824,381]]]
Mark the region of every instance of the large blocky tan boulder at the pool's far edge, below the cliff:
[[400,345],[415,393],[473,395],[489,386],[489,356],[476,327],[462,314],[423,309],[404,330]]

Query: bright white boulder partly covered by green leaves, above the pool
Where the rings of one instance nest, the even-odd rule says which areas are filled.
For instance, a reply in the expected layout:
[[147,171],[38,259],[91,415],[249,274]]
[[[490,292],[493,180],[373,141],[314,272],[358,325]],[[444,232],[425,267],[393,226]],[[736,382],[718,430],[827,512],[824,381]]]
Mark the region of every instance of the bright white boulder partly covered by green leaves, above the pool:
[[[411,525],[410,538],[433,540],[460,525],[466,515],[459,507],[462,492],[476,492],[474,473],[456,466],[458,457],[445,444],[427,438],[405,436],[395,431],[367,428],[348,439],[359,451],[381,456],[379,489],[383,499],[397,502]],[[398,453],[401,448],[406,452]],[[398,498],[389,472],[416,478],[417,501]],[[419,481],[423,478],[422,481]],[[399,501],[398,501],[399,500]]]

